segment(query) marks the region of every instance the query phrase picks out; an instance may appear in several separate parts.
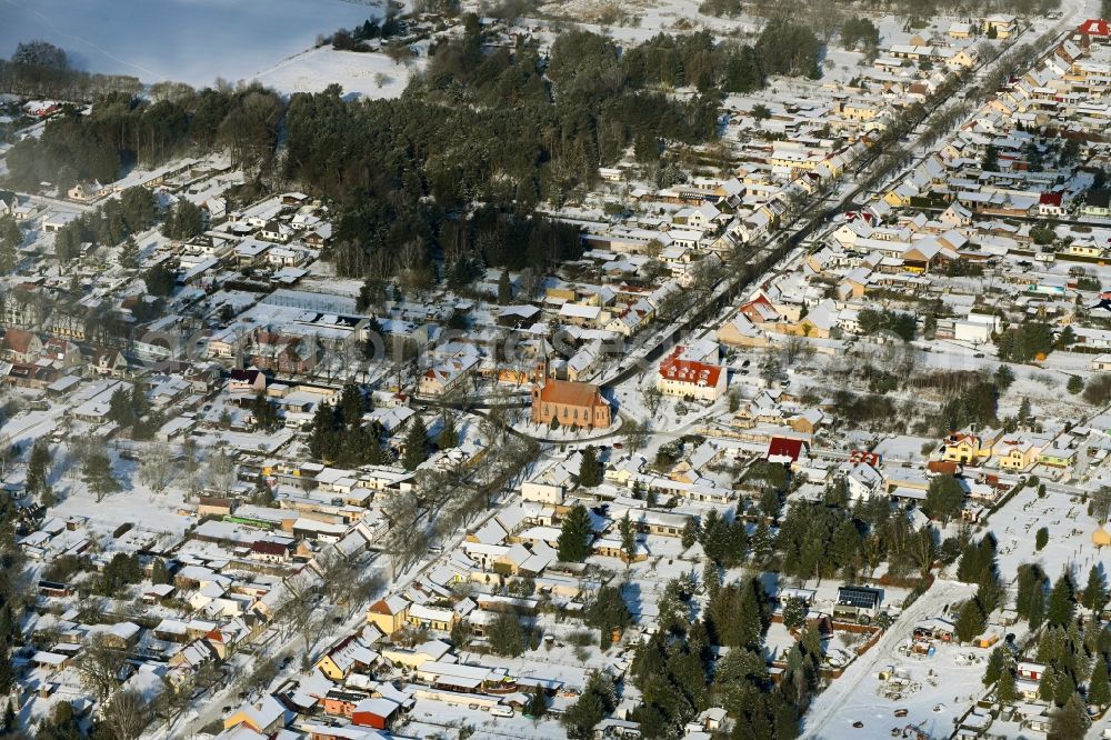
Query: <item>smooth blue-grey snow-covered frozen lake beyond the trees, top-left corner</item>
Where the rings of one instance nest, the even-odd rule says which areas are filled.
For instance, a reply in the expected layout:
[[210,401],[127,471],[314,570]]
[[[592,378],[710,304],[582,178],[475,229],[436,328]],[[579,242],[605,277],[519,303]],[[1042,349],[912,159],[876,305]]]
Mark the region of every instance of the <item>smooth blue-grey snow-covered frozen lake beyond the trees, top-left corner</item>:
[[90,71],[204,86],[250,79],[381,14],[343,0],[0,0],[0,56],[43,39]]

